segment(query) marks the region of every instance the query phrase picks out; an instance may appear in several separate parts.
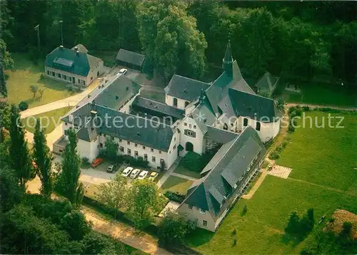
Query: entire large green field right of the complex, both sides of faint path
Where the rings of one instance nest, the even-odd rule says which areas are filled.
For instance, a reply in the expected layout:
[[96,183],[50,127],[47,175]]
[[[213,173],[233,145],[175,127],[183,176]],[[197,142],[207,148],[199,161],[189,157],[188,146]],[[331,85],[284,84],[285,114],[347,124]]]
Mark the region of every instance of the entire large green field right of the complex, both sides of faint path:
[[[326,215],[313,232],[336,209],[357,213],[357,115],[340,115],[346,128],[297,128],[278,160],[278,165],[293,168],[288,179],[268,175],[252,199],[236,203],[215,234],[198,229],[188,236],[188,244],[203,254],[298,254],[313,233],[297,245],[284,239],[292,211],[302,216],[313,208],[316,222]],[[244,205],[248,211],[242,216]]]

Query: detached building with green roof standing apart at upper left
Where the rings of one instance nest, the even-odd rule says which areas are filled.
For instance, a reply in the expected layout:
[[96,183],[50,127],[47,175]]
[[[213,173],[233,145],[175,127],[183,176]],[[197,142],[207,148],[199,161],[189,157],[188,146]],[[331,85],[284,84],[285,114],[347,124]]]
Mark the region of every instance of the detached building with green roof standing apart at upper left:
[[46,76],[79,87],[88,86],[102,73],[103,61],[89,55],[81,44],[71,49],[59,46],[46,56]]

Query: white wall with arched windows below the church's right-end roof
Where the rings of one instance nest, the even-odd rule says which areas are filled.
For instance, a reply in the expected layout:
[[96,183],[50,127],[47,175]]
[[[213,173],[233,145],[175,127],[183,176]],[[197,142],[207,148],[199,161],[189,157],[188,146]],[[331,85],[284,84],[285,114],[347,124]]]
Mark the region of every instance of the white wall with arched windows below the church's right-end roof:
[[[241,116],[236,120],[236,123],[234,125],[235,131],[239,132],[239,131],[243,130],[243,119],[244,118],[247,118],[248,125],[250,125],[251,127],[253,127],[256,130],[256,123],[257,123],[256,120]],[[280,129],[280,119],[274,123],[261,123],[261,130],[260,131],[256,130],[256,132],[258,133],[262,142],[268,142],[269,140],[276,137],[276,135],[278,135],[279,129]]]

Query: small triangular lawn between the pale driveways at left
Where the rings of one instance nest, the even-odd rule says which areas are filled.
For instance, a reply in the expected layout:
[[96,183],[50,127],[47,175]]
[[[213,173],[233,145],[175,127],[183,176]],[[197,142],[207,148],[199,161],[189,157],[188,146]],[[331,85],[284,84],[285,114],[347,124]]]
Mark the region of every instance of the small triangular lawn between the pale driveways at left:
[[56,126],[61,124],[61,117],[66,115],[71,108],[65,107],[57,110],[51,110],[47,113],[41,113],[39,115],[30,116],[28,118],[24,118],[22,123],[25,125],[25,129],[29,132],[34,132],[36,119],[39,118],[41,121],[41,127],[45,128],[45,133],[48,134],[52,132]]

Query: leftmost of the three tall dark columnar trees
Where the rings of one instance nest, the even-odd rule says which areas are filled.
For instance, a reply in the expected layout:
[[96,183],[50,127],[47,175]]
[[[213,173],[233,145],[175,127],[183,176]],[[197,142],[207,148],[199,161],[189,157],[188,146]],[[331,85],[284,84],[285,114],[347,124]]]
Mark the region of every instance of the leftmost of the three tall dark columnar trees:
[[24,127],[20,123],[19,110],[11,105],[10,110],[10,167],[16,172],[20,186],[25,190],[26,182],[34,177],[34,168],[25,140]]

